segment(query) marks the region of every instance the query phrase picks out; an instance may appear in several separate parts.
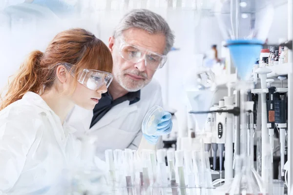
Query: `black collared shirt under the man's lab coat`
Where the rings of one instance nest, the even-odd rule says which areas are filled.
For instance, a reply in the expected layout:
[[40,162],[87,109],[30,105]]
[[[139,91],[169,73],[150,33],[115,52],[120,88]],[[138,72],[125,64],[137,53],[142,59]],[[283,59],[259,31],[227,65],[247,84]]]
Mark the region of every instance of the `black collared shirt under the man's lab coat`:
[[102,98],[99,103],[96,104],[93,113],[94,116],[90,123],[90,128],[94,126],[104,115],[114,106],[124,102],[129,101],[129,105],[134,104],[140,100],[140,90],[136,92],[128,92],[126,95],[113,100],[111,95],[107,92],[102,94]]

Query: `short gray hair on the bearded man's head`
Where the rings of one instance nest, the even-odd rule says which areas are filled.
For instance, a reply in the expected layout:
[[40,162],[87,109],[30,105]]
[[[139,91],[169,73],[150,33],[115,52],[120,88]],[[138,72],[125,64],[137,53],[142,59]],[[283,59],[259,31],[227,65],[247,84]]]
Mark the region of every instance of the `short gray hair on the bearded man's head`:
[[167,21],[159,14],[150,10],[133,9],[128,12],[114,29],[113,37],[117,38],[123,35],[123,32],[129,28],[143,29],[150,34],[164,34],[166,38],[164,55],[167,55],[174,44],[175,36],[167,24]]

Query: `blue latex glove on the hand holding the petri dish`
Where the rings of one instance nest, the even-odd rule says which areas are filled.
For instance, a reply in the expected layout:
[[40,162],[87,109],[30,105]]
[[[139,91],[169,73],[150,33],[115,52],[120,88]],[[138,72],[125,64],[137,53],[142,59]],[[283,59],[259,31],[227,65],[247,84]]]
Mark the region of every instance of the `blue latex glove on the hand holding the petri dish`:
[[157,125],[157,131],[155,135],[154,136],[148,136],[146,134],[143,134],[143,135],[146,138],[148,143],[155,145],[158,142],[160,136],[171,133],[172,126],[173,126],[173,123],[171,120],[171,114],[168,112],[165,112],[164,116],[161,118],[161,121]]

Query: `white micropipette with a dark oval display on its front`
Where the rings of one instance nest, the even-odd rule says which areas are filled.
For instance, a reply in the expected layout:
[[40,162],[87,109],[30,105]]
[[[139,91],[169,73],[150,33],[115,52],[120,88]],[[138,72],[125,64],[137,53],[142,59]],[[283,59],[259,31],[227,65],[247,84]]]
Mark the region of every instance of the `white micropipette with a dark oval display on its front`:
[[[224,99],[219,101],[219,110],[226,110]],[[216,114],[216,126],[217,126],[217,140],[216,143],[219,149],[219,160],[220,160],[220,178],[222,178],[223,172],[223,152],[225,150],[225,141],[226,141],[226,127],[227,127],[227,113],[217,113]]]

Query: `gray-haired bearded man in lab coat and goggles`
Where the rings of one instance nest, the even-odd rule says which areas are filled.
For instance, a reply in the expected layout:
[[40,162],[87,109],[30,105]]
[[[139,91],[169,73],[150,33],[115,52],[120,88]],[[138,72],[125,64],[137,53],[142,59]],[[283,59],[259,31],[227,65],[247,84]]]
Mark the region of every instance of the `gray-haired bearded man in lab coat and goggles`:
[[[174,35],[160,15],[137,9],[127,13],[109,38],[114,79],[93,112],[75,108],[68,122],[77,135],[96,137],[97,155],[104,159],[106,149],[155,149],[160,137],[172,129],[171,114],[157,125],[155,136],[142,132],[142,122],[153,106],[162,106],[160,84],[152,80],[167,60]],[[80,131],[84,130],[84,131]]]

